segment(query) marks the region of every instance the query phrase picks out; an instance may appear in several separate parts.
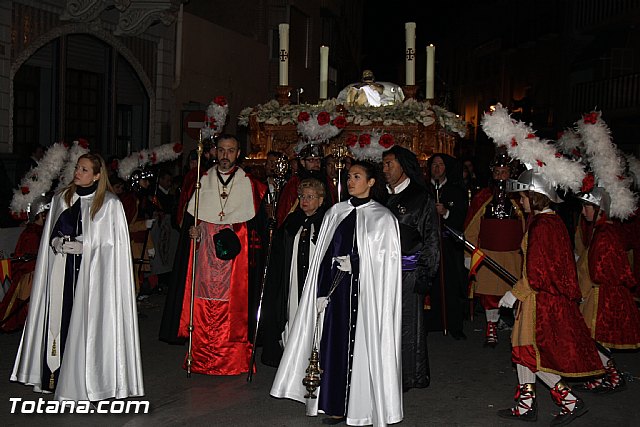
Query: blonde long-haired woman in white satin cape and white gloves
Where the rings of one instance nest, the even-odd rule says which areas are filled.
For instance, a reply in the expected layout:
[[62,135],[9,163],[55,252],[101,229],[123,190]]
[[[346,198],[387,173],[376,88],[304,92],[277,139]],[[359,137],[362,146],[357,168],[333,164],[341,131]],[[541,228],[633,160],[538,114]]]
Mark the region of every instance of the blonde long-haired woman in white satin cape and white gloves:
[[127,220],[102,158],[53,198],[12,381],[58,400],[142,396]]

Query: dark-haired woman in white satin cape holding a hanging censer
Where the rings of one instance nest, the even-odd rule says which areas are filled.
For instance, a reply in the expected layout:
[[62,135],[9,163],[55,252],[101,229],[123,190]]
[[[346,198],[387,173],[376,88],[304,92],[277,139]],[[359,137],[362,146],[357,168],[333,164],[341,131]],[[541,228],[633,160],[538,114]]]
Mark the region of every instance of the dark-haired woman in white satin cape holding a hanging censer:
[[[384,194],[375,165],[349,169],[351,198],[325,215],[289,342],[271,395],[307,403],[324,424],[402,421],[401,250],[398,222],[376,201]],[[319,349],[317,399],[302,383]]]

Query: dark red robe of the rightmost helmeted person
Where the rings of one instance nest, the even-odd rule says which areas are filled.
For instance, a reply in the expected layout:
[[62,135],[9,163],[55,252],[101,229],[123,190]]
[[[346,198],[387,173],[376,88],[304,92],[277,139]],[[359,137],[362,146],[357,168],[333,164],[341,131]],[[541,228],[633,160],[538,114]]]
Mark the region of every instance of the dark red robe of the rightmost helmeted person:
[[596,225],[589,246],[589,275],[599,285],[591,335],[605,347],[639,348],[640,313],[631,294],[636,281],[616,225]]

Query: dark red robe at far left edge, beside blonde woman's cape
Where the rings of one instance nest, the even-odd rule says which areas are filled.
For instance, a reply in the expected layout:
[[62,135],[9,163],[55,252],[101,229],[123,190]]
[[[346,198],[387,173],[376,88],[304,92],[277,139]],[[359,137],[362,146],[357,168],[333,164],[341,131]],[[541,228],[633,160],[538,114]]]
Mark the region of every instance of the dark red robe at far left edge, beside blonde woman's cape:
[[[2,322],[0,329],[5,332],[22,328],[27,320],[29,305],[25,301],[31,290],[31,277],[27,275],[33,273],[36,268],[35,255],[38,254],[40,247],[42,229],[42,225],[27,224],[16,243],[15,257],[33,256],[34,258],[11,263],[11,287],[0,303],[0,322]],[[4,322],[4,319],[7,321]]]

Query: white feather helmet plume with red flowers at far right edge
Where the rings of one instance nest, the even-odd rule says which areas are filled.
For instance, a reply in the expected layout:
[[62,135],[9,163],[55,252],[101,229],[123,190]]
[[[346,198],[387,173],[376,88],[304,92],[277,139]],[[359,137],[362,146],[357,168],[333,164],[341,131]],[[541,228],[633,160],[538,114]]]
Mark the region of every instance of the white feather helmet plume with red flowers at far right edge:
[[635,211],[637,199],[630,189],[631,177],[625,176],[624,160],[611,140],[611,131],[602,113],[592,111],[576,122],[582,137],[585,160],[594,175],[594,185],[611,197],[610,217],[626,219]]

